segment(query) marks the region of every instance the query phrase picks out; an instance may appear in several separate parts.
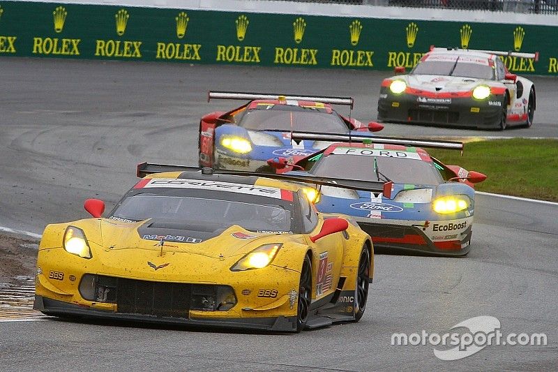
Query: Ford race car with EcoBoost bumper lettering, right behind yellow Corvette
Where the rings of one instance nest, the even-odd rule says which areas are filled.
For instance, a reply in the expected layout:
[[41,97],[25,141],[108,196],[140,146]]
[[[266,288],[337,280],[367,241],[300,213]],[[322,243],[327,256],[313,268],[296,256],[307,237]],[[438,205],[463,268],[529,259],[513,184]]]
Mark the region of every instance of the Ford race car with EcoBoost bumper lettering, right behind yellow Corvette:
[[[293,138],[348,140],[341,135],[308,133],[293,133]],[[425,150],[414,147],[420,144],[462,149],[461,142],[391,137],[373,140],[352,137],[351,141],[331,144],[295,163],[273,158],[270,165],[292,170],[286,174],[352,180],[369,188],[378,186],[378,182],[389,183],[391,187],[377,187],[375,192],[322,186],[315,203],[319,211],[354,216],[370,234],[375,247],[383,248],[382,251],[420,251],[434,255],[469,252],[475,197],[472,186],[484,181],[486,176],[456,165],[444,165]]]

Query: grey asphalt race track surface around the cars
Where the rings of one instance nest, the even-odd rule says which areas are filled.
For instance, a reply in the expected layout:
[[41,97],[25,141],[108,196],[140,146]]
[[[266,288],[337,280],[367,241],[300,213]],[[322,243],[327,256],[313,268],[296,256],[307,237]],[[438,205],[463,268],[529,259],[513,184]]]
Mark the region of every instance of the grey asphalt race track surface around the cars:
[[[386,73],[181,64],[0,59],[0,226],[40,233],[86,218],[82,202],[112,207],[135,164],[197,163],[197,124],[234,102],[209,89],[356,99],[375,119]],[[558,80],[534,77],[535,123],[480,132],[388,124],[385,135],[556,137]],[[343,110],[342,108],[340,110]],[[0,370],[372,371],[555,370],[558,365],[558,207],[478,195],[467,258],[377,255],[357,324],[298,335],[217,332],[44,320],[0,322]],[[391,345],[391,334],[443,334],[479,315],[502,333],[545,333],[548,345],[490,345],[453,362],[432,345]]]

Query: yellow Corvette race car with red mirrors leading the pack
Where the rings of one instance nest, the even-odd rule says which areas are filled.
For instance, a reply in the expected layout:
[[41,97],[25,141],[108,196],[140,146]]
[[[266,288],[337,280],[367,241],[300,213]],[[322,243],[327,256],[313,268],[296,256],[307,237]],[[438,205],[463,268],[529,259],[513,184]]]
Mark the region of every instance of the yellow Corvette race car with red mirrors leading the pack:
[[372,241],[349,217],[317,212],[315,188],[146,163],[138,176],[105,218],[89,199],[92,218],[47,225],[34,308],[280,332],[362,317]]

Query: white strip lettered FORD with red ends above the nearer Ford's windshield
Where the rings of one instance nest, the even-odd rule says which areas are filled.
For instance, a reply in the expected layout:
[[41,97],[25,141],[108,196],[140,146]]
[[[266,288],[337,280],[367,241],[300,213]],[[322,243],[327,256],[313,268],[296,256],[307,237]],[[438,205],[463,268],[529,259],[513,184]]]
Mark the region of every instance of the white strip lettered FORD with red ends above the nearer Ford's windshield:
[[421,160],[427,163],[432,158],[420,147],[403,146],[401,144],[365,144],[365,143],[334,143],[324,151],[324,156],[335,155],[358,155],[358,156],[383,156],[393,158],[407,158]]

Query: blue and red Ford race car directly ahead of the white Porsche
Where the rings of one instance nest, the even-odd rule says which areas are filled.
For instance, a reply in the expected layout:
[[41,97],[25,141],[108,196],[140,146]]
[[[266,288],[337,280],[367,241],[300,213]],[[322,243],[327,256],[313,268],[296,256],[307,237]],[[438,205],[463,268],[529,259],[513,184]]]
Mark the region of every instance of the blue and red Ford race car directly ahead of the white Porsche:
[[250,100],[229,112],[212,112],[199,122],[199,165],[215,169],[267,170],[273,156],[308,156],[327,146],[320,141],[293,142],[292,131],[372,135],[384,126],[368,126],[343,117],[331,107],[350,97],[281,96],[210,91],[209,99]]

